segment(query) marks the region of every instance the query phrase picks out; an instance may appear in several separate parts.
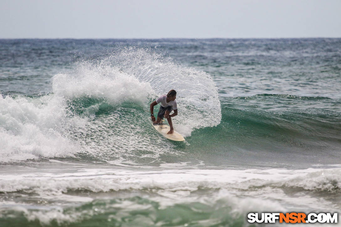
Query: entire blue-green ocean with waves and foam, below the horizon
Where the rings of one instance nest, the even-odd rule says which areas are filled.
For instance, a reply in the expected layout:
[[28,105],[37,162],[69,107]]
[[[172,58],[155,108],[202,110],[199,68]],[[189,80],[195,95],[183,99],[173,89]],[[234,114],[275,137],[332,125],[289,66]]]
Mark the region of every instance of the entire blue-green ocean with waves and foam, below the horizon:
[[0,91],[0,226],[341,212],[341,39],[0,40]]

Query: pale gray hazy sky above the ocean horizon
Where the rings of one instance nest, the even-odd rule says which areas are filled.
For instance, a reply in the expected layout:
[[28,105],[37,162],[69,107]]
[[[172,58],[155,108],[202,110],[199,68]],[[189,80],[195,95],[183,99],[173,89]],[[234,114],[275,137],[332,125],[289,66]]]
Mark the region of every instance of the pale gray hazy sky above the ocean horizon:
[[0,38],[341,37],[341,0],[0,0]]

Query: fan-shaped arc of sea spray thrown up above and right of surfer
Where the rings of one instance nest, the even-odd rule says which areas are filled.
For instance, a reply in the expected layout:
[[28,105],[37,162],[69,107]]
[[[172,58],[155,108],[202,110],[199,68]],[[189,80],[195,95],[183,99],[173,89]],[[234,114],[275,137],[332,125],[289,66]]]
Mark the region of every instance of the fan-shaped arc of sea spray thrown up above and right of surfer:
[[218,89],[209,74],[176,64],[150,50],[134,47],[124,48],[104,61],[119,66],[141,82],[149,82],[157,95],[175,89],[179,114],[174,125],[181,134],[190,136],[195,128],[220,123]]

